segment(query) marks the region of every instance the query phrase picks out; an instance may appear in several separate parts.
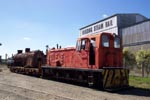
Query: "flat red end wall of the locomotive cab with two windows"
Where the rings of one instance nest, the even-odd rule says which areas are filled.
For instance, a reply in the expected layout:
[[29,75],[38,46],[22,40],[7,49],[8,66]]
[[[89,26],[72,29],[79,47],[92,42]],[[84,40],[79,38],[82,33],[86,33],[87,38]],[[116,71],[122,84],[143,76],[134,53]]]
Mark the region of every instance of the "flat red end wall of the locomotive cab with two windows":
[[100,44],[100,59],[103,60],[100,67],[122,67],[122,45],[117,35],[102,34]]

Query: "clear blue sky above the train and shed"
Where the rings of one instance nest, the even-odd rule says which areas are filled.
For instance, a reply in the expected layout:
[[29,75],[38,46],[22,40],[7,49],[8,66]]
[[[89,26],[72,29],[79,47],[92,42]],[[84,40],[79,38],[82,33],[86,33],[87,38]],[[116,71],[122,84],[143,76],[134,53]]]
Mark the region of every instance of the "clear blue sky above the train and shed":
[[150,0],[0,0],[0,55],[75,46],[79,29],[116,13],[150,18]]

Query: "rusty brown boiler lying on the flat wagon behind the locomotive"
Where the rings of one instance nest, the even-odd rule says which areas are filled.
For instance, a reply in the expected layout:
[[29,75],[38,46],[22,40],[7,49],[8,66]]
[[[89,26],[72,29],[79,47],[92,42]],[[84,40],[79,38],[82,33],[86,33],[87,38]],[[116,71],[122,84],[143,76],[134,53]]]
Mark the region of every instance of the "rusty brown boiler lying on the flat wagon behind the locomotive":
[[22,67],[39,67],[44,64],[44,53],[40,50],[36,51],[26,51],[25,53],[18,52],[13,56],[14,64],[13,66]]

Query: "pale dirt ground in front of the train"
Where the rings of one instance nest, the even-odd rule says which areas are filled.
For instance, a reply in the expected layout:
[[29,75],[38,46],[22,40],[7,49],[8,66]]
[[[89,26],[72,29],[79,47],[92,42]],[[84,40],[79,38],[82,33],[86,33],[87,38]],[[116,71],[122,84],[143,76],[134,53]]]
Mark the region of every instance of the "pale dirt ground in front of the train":
[[0,100],[150,100],[150,90],[100,91],[21,74],[0,65]]

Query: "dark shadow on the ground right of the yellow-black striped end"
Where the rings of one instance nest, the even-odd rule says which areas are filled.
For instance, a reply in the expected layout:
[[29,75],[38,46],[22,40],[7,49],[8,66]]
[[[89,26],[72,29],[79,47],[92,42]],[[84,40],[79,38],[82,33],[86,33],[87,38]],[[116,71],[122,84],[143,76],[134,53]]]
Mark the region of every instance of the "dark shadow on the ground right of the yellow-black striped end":
[[120,90],[115,93],[121,95],[135,95],[135,96],[146,96],[150,97],[150,89],[142,89],[137,87],[130,87],[128,89]]

